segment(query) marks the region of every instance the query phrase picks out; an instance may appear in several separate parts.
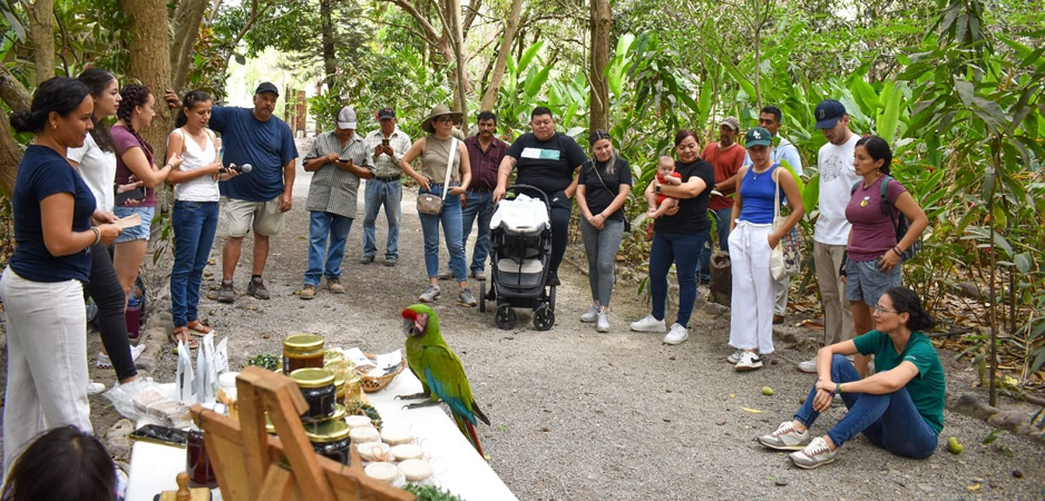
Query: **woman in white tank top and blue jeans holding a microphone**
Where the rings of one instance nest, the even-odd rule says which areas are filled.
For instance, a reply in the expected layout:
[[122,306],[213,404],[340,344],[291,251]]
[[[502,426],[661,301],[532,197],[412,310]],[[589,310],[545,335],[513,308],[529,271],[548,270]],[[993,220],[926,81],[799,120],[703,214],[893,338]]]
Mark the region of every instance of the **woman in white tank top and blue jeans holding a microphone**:
[[217,155],[214,132],[207,128],[211,120],[211,96],[202,90],[189,91],[182,99],[178,128],[167,138],[168,160],[182,157],[182,165],[167,176],[175,186],[174,268],[170,272],[170,314],[174,331],[168,336],[174,343],[183,342],[196,347],[194,335],[206,335],[211,327],[199,322],[199,284],[203,268],[211,255],[217,232],[218,180],[236,176],[223,171]]

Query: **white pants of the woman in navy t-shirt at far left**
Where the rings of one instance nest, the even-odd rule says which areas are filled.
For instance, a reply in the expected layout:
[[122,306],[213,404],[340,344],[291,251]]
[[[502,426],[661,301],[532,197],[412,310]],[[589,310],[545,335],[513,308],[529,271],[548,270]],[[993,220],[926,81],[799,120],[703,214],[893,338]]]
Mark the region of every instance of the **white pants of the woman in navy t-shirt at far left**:
[[87,401],[87,313],[79,281],[0,277],[7,314],[8,381],[3,473],[40,433],[74,425],[92,432]]

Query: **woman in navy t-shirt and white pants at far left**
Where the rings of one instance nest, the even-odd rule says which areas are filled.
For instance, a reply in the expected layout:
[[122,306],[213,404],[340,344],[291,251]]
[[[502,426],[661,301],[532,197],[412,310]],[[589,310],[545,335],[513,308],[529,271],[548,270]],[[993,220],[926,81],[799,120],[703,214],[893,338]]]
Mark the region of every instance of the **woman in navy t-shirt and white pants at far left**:
[[7,314],[8,374],[3,406],[3,471],[49,428],[91,431],[87,401],[88,248],[111,243],[115,224],[92,226],[95,196],[66,159],[91,129],[87,86],[57,77],[37,88],[29,111],[11,115],[36,132],[18,166],[11,205],[14,254],[0,276]]

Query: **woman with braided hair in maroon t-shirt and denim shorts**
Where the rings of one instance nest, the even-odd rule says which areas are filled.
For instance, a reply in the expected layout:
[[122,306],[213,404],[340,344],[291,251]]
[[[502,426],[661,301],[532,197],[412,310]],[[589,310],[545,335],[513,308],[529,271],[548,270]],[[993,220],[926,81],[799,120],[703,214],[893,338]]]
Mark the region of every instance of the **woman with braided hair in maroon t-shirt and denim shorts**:
[[125,185],[140,180],[145,186],[145,198],[117,204],[116,216],[128,217],[134,214],[141,216],[141,224],[126,228],[116,239],[113,253],[113,264],[116,275],[124,287],[124,303],[130,297],[138,268],[145,259],[145,249],[149,242],[149,226],[156,213],[157,186],[163,186],[164,179],[182,165],[182,157],[174,156],[163,168],[156,167],[153,160],[153,148],[145,143],[138,134],[139,130],[153,122],[156,116],[154,106],[156,99],[145,86],[131,84],[124,86],[119,91],[120,102],[116,109],[117,122],[110,129],[113,144],[116,148],[116,183]]

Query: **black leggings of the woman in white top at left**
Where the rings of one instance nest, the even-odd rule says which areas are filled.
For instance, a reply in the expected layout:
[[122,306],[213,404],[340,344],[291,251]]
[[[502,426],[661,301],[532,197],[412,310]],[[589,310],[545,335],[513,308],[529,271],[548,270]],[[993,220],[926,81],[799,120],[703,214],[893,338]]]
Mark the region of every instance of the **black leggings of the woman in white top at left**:
[[127,298],[124,296],[124,286],[116,277],[109,250],[104,244],[90,247],[90,283],[87,284],[87,294],[98,305],[101,344],[109,352],[116,377],[123,381],[138,375],[134,358],[130,357],[130,341],[127,338],[127,318],[124,314]]

